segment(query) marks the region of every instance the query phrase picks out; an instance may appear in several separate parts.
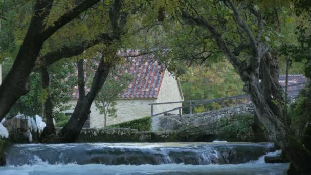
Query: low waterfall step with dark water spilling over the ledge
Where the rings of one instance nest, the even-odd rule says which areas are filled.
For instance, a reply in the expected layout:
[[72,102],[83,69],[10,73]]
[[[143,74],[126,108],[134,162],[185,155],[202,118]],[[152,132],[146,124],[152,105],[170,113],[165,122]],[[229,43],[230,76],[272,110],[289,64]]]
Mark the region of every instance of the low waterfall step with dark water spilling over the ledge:
[[[239,164],[261,160],[274,151],[270,143],[168,144],[16,144],[6,153],[7,165],[37,164]],[[258,160],[258,161],[259,161]]]

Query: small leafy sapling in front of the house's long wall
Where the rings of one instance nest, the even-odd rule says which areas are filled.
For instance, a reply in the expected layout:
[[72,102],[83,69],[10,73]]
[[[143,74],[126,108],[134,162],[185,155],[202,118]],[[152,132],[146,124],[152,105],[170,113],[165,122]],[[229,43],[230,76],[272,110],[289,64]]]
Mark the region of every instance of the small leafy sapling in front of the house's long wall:
[[117,99],[131,81],[132,76],[130,74],[122,74],[120,76],[112,74],[107,77],[102,89],[97,94],[95,106],[98,108],[99,114],[104,114],[105,126],[107,116],[117,117]]

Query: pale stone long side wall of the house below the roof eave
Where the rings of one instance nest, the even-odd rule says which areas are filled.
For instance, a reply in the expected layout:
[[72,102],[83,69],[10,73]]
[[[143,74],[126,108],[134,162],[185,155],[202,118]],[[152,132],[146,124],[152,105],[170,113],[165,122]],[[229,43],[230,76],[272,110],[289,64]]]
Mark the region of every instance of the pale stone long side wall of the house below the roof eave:
[[[151,107],[149,103],[155,103],[156,99],[119,99],[117,101],[116,108],[117,118],[107,117],[107,125],[122,123],[130,120],[135,120],[150,116]],[[73,99],[69,101],[73,107],[71,110],[66,111],[67,113],[72,113],[74,107],[77,104],[77,100]],[[101,128],[104,127],[104,115],[99,114],[95,103],[91,105],[90,114],[90,127],[91,128]]]

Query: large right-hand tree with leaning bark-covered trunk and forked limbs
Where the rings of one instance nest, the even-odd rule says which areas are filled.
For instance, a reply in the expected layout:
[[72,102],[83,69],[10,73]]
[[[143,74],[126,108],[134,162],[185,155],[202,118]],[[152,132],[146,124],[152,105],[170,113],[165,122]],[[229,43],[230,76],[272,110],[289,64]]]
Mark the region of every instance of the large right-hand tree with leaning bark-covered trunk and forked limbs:
[[[258,119],[266,128],[269,138],[278,146],[280,146],[280,148],[284,152],[286,152],[288,160],[291,161],[293,167],[295,168],[295,170],[297,170],[297,172],[309,174],[311,173],[311,166],[309,166],[309,160],[311,160],[311,153],[294,138],[289,128],[286,127],[282,120],[273,113],[272,109],[270,108],[268,102],[265,99],[265,96],[267,94],[265,94],[260,87],[258,77],[259,67],[261,63],[264,63],[263,58],[270,55],[269,47],[266,46],[264,43],[260,42],[260,35],[263,29],[261,13],[256,9],[252,8],[252,6],[249,6],[251,12],[258,19],[258,31],[257,37],[255,38],[248,25],[240,17],[239,11],[234,5],[233,1],[228,0],[226,2],[228,2],[229,6],[234,12],[233,15],[237,26],[245,32],[245,35],[250,41],[249,48],[252,51],[250,55],[250,63],[246,60],[239,61],[231,48],[227,45],[226,41],[221,37],[221,34],[217,31],[216,27],[209,23],[209,21],[207,21],[203,16],[192,16],[187,13],[187,9],[182,9],[181,16],[185,23],[189,25],[201,26],[210,31],[210,33],[214,37],[218,48],[226,55],[230,63],[238,72],[242,81],[245,83],[243,86],[243,91],[250,95],[250,98],[255,106],[255,111],[258,115]],[[270,64],[267,65],[269,65],[270,67]],[[276,83],[272,81],[273,78],[271,78],[270,71],[268,71],[267,68],[268,66],[266,66],[265,70],[261,72],[263,76],[269,77],[265,79],[265,82],[267,83],[265,86],[272,86],[272,88],[278,89]],[[270,83],[268,83],[268,80],[270,81]]]

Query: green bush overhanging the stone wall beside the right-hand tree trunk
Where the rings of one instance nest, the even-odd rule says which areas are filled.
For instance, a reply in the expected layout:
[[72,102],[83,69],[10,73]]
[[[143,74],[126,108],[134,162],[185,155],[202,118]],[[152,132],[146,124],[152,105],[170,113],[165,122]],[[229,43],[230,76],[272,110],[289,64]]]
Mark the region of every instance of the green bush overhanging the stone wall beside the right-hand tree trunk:
[[220,120],[221,132],[237,136],[239,140],[245,140],[253,133],[253,115],[237,115]]

